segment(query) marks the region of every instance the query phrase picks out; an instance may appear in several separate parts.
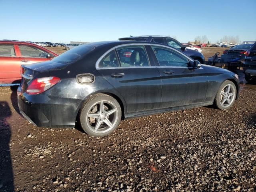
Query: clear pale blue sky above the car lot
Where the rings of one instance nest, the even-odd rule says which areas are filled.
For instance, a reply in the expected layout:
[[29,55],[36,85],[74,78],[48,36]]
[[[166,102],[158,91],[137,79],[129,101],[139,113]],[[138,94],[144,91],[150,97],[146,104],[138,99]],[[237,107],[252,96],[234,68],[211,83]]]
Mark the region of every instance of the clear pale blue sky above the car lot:
[[118,40],[139,35],[206,35],[256,40],[256,0],[0,0],[0,39]]

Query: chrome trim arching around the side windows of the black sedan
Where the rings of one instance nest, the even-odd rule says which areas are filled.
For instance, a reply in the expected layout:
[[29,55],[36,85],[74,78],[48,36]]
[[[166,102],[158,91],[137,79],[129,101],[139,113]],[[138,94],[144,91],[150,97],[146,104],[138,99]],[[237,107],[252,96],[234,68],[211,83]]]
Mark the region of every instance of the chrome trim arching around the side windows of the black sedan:
[[[152,67],[156,67],[156,66],[144,66],[144,67],[142,67],[142,66],[141,67],[99,67],[100,61],[104,58],[104,56],[106,56],[112,50],[115,50],[116,48],[120,48],[120,47],[134,46],[134,45],[135,46],[146,46],[146,45],[149,45],[149,46],[160,46],[160,47],[168,48],[170,50],[173,50],[173,51],[177,52],[178,54],[182,54],[183,56],[188,58],[188,60],[192,61],[192,59],[189,56],[187,56],[186,54],[184,54],[182,52],[179,52],[177,49],[172,48],[170,46],[160,45],[160,44],[153,44],[153,43],[127,43],[127,44],[122,44],[122,45],[114,46],[114,47],[110,48],[109,50],[107,50],[104,54],[102,54],[102,56],[100,56],[100,58],[98,58],[98,60],[96,61],[96,64],[95,64],[96,69],[97,70],[98,69],[101,70],[101,69],[110,69],[110,68],[114,68],[114,69],[118,68],[119,69],[119,68],[149,68],[149,67],[152,68]],[[145,51],[146,51],[146,49],[145,49]],[[146,51],[146,54],[148,54],[147,51]],[[188,67],[186,67],[186,68],[188,68]]]

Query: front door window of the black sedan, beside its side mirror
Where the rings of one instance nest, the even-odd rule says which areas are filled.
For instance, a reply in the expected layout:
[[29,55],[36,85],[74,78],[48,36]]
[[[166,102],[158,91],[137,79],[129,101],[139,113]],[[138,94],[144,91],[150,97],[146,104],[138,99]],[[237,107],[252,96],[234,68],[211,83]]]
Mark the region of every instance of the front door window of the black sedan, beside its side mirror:
[[188,58],[186,58],[182,54],[169,49],[160,48],[158,46],[151,47],[154,51],[154,54],[156,55],[160,66],[188,67]]

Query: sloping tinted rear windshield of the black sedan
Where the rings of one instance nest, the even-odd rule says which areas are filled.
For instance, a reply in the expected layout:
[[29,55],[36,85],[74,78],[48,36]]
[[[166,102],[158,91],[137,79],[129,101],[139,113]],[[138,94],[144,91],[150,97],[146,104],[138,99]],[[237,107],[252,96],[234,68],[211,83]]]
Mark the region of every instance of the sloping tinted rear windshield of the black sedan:
[[95,46],[92,46],[90,44],[81,45],[62,53],[58,57],[54,58],[52,61],[62,64],[71,64],[80,60],[82,57],[84,57],[94,49]]

